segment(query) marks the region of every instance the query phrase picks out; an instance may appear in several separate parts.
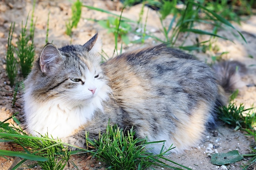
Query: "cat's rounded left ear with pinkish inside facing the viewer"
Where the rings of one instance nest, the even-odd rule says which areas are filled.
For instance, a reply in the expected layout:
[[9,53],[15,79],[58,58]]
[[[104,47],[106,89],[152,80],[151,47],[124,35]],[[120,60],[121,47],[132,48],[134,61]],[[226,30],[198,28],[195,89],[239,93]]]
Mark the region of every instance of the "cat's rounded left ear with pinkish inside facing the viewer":
[[50,72],[61,60],[61,53],[52,45],[47,44],[40,55],[40,69],[43,73]]

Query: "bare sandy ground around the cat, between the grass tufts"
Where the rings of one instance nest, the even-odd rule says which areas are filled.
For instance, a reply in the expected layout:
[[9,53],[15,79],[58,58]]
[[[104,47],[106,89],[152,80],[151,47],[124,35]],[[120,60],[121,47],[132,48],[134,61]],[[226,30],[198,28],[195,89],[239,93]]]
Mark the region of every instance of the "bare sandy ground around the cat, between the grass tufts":
[[[71,16],[71,4],[72,3],[69,0],[39,0],[36,3],[35,17],[37,18],[37,22],[34,41],[37,56],[40,54],[41,49],[45,45],[48,13],[50,13],[49,42],[53,42],[58,47],[70,44],[70,42],[73,44],[83,44],[97,31],[99,31],[103,42],[103,50],[106,52],[106,54],[108,54],[108,56],[112,56],[115,47],[114,36],[112,34],[108,34],[107,30],[103,29],[96,22],[88,20],[88,18],[97,20],[106,19],[108,16],[105,13],[88,10],[84,7],[82,11],[82,18],[78,24],[78,27],[73,30],[72,39],[65,34],[65,22],[67,22],[68,18]],[[118,9],[118,4],[115,4],[110,0],[88,0],[85,1],[84,4],[102,9],[113,10],[112,12],[117,14],[120,13],[120,11],[116,11],[116,9]],[[123,16],[132,20],[137,20],[140,10],[141,5],[136,5],[130,9],[126,9]],[[15,45],[20,33],[21,21],[23,20],[23,22],[25,22],[28,13],[31,13],[31,11],[32,2],[30,0],[0,1],[0,121],[3,121],[15,112],[22,112],[22,99],[20,96],[22,92],[18,93],[15,107],[12,107],[13,88],[9,86],[9,81],[5,73],[5,52],[11,22],[16,22],[16,28],[13,35],[13,44]],[[147,7],[145,7],[145,11],[147,11]],[[143,25],[145,20],[146,15],[143,16]],[[136,25],[132,25],[133,28],[135,28],[135,26]],[[240,90],[236,101],[237,103],[244,103],[245,107],[249,108],[253,104],[256,105],[256,16],[247,18],[241,23],[241,25],[234,23],[234,26],[243,33],[247,40],[247,44],[243,42],[241,38],[234,36],[230,29],[227,29],[220,31],[219,34],[230,38],[234,42],[218,39],[213,43],[213,45],[219,48],[217,53],[207,51],[207,53],[194,52],[193,54],[200,58],[200,60],[211,63],[211,56],[216,56],[222,52],[228,51],[229,53],[225,54],[223,58],[243,62],[248,68],[248,74],[243,78],[243,81],[245,81],[245,86]],[[211,30],[211,27],[206,25],[198,25],[197,27],[204,30]],[[161,26],[157,13],[151,9],[149,9],[148,12],[146,29],[149,34],[153,34],[154,36],[164,39],[164,36],[160,31]],[[135,35],[130,34],[129,38],[133,40],[136,37]],[[186,41],[186,44],[191,45],[193,42],[195,42],[195,38],[195,35],[191,35]],[[205,37],[198,38],[200,40],[205,39]],[[182,37],[180,39],[182,39]],[[148,39],[144,45],[125,45],[123,47],[123,51],[142,46],[154,45],[156,43],[159,42]],[[119,45],[119,48],[120,47],[121,46]],[[243,163],[246,163],[246,161],[249,159],[245,158],[237,163],[220,167],[210,163],[210,155],[212,153],[228,152],[230,150],[238,150],[241,154],[247,154],[250,151],[250,145],[252,143],[254,143],[254,139],[251,136],[245,136],[243,132],[234,131],[232,128],[223,127],[220,125],[216,130],[207,132],[202,140],[202,143],[200,143],[198,147],[191,148],[191,150],[186,150],[180,154],[171,154],[170,159],[195,170],[224,170],[225,168],[230,170],[241,170],[242,168],[240,166],[243,165]],[[16,150],[15,146],[10,143],[0,143],[0,149]],[[20,161],[20,158],[17,157],[8,158],[9,159],[4,159],[3,157],[0,157],[0,169],[7,170],[15,166]],[[102,166],[102,164],[100,164],[98,161],[94,159],[86,160],[86,158],[87,155],[72,156],[66,169],[92,170],[98,169]],[[76,166],[74,166],[73,163]],[[27,162],[24,166],[22,166],[22,169],[26,169],[28,164],[33,163]],[[32,167],[34,168],[30,167],[31,170],[40,169],[40,167],[37,167],[36,164]],[[249,169],[254,168],[256,168],[256,166],[253,164]]]

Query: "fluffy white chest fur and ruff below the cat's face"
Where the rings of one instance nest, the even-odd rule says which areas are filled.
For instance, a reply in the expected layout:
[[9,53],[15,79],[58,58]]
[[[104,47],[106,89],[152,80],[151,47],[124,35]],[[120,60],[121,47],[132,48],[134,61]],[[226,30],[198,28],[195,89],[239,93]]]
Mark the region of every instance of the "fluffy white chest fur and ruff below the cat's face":
[[23,96],[27,130],[33,136],[70,136],[92,118],[95,110],[103,110],[102,101],[108,98],[109,92],[109,87],[104,85],[90,101],[84,101],[83,105],[70,105],[58,98],[38,103],[28,91]]

